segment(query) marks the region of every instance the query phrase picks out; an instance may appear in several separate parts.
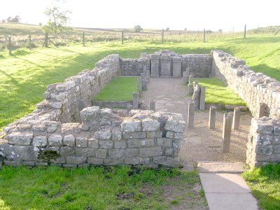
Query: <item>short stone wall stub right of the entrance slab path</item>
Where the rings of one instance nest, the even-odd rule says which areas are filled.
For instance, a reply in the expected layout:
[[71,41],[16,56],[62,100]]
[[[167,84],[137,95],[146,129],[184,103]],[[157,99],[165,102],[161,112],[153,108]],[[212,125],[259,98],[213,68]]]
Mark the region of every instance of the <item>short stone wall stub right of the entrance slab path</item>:
[[251,167],[280,162],[280,119],[252,119],[246,156]]

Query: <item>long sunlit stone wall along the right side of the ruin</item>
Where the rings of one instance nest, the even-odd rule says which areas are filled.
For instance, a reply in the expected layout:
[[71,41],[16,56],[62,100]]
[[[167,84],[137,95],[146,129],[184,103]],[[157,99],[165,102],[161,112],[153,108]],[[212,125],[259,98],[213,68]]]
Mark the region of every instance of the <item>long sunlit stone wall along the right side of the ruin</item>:
[[260,103],[266,105],[265,116],[280,117],[280,83],[255,73],[245,61],[222,51],[212,51],[214,60],[211,76],[223,80],[246,102],[254,117],[258,116]]

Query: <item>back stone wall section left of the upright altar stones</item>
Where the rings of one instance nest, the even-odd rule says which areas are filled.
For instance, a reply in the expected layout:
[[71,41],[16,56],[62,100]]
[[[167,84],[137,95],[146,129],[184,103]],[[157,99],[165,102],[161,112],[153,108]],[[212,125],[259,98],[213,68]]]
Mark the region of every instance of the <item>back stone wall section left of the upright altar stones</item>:
[[150,57],[146,53],[141,53],[139,59],[120,59],[120,75],[140,76],[144,73],[144,68],[150,69]]

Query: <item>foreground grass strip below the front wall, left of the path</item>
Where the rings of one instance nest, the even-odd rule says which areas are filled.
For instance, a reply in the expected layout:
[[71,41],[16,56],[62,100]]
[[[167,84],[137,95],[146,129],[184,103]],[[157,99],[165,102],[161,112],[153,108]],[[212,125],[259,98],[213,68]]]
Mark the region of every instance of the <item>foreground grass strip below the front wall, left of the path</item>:
[[169,209],[167,185],[184,186],[192,196],[181,200],[204,206],[191,190],[199,182],[197,172],[178,169],[3,167],[0,209]]

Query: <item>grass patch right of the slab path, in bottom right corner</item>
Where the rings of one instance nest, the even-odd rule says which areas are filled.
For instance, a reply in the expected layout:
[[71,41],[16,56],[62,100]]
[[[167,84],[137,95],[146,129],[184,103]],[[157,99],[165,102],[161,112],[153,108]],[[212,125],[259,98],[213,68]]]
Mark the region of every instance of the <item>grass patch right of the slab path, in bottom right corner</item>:
[[280,209],[280,164],[251,169],[242,174],[260,209]]

